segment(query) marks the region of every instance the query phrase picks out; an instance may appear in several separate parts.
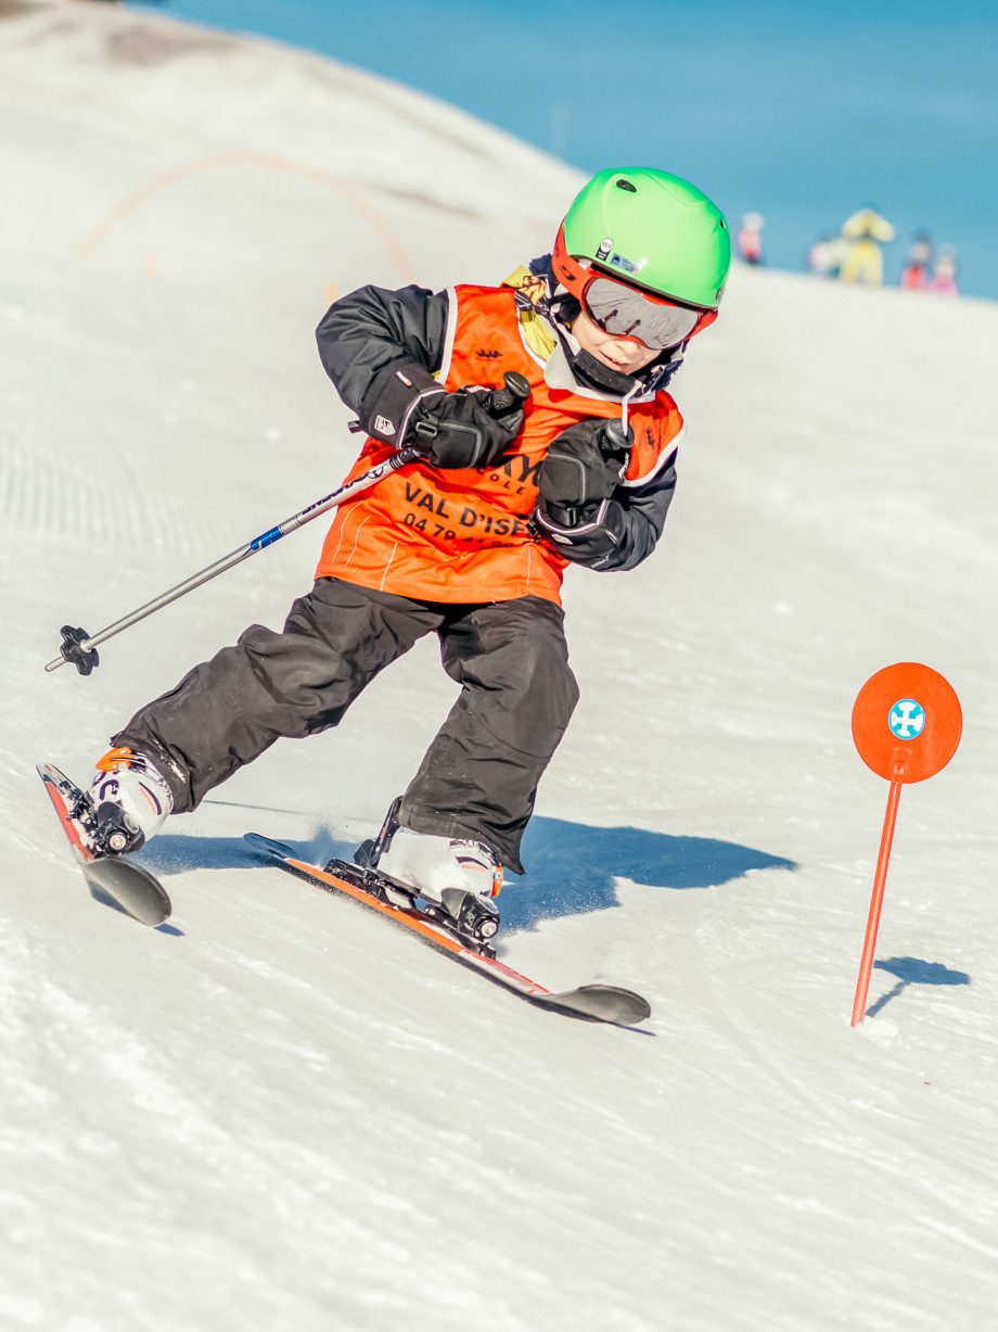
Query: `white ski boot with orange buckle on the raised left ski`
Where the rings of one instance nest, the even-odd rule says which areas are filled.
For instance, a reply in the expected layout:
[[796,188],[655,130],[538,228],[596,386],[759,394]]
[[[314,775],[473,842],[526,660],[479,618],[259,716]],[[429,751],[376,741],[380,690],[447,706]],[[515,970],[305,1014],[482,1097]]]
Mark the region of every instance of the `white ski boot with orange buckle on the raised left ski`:
[[173,810],[173,794],[158,769],[128,746],[97,761],[86,794],[93,809],[85,831],[97,855],[138,851]]

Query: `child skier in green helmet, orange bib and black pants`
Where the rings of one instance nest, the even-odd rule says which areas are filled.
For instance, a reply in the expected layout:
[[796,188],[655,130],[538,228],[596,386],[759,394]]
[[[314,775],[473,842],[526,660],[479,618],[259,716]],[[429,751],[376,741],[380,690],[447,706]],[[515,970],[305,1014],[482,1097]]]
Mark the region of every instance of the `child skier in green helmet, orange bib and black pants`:
[[[358,859],[438,906],[472,894],[498,924],[502,866],[523,872],[578,699],[563,571],[633,569],[661,535],[683,428],[665,386],[717,317],[729,260],[721,212],[688,181],[603,170],[552,253],[500,286],[337,301],[317,337],[367,436],[350,476],[403,446],[420,460],[337,510],[279,633],[250,626],[112,738],[89,789],[97,850],[112,832],[136,850],[279,737],[335,726],[432,631],[460,694]],[[508,372],[528,398],[494,393]]]

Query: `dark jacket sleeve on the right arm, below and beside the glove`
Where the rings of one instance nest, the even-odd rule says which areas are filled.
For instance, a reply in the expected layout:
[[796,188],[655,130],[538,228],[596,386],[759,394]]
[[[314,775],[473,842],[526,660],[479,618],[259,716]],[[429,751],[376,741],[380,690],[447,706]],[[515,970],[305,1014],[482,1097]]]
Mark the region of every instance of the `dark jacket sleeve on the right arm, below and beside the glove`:
[[641,486],[617,486],[595,517],[578,527],[559,527],[538,507],[534,521],[560,555],[575,565],[608,573],[635,569],[651,555],[665,527],[676,493],[676,454]]

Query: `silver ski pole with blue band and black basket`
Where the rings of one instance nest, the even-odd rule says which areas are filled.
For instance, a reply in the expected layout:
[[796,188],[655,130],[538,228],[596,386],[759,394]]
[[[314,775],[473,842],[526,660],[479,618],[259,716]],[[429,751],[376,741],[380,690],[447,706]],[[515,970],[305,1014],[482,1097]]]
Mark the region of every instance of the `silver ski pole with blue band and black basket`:
[[[522,374],[518,374],[515,370],[507,370],[503,378],[506,381],[506,388],[494,389],[488,396],[488,412],[492,416],[504,416],[515,408],[519,408],[520,404],[530,397],[530,382]],[[100,655],[97,653],[98,643],[106,642],[106,639],[113,638],[114,634],[120,634],[122,629],[130,629],[132,625],[137,625],[140,619],[145,619],[157,610],[162,610],[162,607],[169,606],[172,601],[185,597],[196,587],[201,587],[202,583],[206,583],[212,578],[217,578],[218,574],[224,574],[226,570],[242,563],[242,561],[249,559],[250,555],[255,555],[257,551],[266,550],[267,546],[273,546],[275,541],[281,539],[281,537],[286,537],[290,531],[297,531],[298,527],[303,527],[306,522],[311,522],[313,518],[318,518],[319,514],[326,513],[329,509],[335,509],[337,505],[343,503],[345,500],[351,500],[355,494],[377,485],[378,481],[383,480],[390,473],[398,472],[399,468],[405,468],[407,462],[413,462],[419,457],[422,457],[419,449],[401,449],[390,458],[386,458],[385,462],[379,462],[377,466],[371,468],[370,472],[365,472],[363,476],[357,477],[354,481],[349,481],[331,494],[323,496],[322,500],[315,500],[314,503],[307,505],[299,513],[293,514],[290,518],[285,518],[283,522],[278,522],[275,527],[262,531],[258,537],[254,537],[245,545],[238,546],[221,559],[216,559],[213,565],[208,565],[206,569],[201,569],[198,573],[192,574],[190,578],[185,578],[184,582],[177,583],[176,587],[170,587],[169,591],[161,593],[158,597],[153,597],[152,601],[140,606],[138,610],[133,610],[129,615],[122,615],[121,619],[116,619],[113,625],[108,625],[106,629],[101,629],[97,634],[90,635],[85,629],[73,629],[69,625],[63,625],[63,629],[60,630],[63,634],[63,646],[60,647],[59,657],[48,662],[45,665],[45,670],[59,670],[59,667],[65,662],[72,662],[81,675],[89,675],[94,666],[100,666]]]

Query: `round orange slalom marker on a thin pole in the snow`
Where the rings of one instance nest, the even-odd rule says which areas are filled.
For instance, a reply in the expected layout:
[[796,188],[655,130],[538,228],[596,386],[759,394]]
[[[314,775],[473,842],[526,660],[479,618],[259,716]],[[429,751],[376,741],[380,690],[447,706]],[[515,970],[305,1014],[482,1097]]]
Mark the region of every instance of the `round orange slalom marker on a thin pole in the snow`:
[[885,666],[866,681],[853,705],[853,741],[860,758],[890,782],[853,1000],[853,1027],[862,1022],[866,1011],[901,787],[941,771],[957,753],[962,730],[963,714],[953,686],[938,671],[918,662]]

